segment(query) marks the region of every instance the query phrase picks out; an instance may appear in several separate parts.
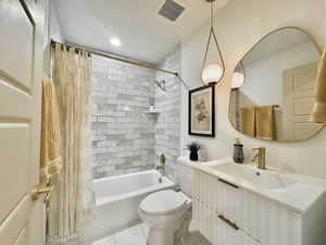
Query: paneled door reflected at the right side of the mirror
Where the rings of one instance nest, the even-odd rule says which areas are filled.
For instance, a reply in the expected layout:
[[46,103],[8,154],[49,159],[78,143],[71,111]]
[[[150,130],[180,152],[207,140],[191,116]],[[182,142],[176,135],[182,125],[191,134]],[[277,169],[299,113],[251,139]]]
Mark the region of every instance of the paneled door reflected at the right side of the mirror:
[[311,121],[317,62],[284,71],[283,140],[301,140],[317,133],[322,125]]

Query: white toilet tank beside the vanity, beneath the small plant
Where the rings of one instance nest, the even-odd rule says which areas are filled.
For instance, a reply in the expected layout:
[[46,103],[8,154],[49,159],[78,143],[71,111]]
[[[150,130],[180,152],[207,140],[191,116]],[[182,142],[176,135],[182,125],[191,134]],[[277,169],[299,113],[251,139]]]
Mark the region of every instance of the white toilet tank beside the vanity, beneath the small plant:
[[178,158],[177,172],[181,191],[189,197],[192,197],[192,168],[189,158]]

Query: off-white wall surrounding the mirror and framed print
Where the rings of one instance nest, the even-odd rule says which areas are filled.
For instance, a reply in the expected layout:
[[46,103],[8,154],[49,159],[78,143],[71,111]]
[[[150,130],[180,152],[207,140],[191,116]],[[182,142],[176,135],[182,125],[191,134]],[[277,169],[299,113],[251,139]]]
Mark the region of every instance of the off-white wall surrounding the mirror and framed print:
[[[263,146],[267,164],[287,171],[326,179],[326,130],[314,138],[296,144],[268,143],[236,132],[227,117],[230,74],[241,57],[263,35],[281,26],[299,26],[311,33],[322,46],[325,32],[324,0],[233,0],[215,17],[215,30],[226,62],[226,74],[216,85],[216,136],[188,135],[188,90],[181,91],[181,147],[198,139],[210,159],[231,156],[235,137],[241,137],[246,154]],[[181,75],[191,88],[200,86],[200,70],[209,25],[181,42]],[[248,159],[248,157],[247,157]]]

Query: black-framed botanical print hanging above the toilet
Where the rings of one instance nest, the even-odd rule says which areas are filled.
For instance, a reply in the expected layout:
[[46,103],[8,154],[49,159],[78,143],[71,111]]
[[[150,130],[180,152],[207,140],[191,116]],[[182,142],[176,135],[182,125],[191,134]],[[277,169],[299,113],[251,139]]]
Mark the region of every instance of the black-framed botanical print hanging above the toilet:
[[188,130],[190,135],[215,137],[215,86],[189,91]]

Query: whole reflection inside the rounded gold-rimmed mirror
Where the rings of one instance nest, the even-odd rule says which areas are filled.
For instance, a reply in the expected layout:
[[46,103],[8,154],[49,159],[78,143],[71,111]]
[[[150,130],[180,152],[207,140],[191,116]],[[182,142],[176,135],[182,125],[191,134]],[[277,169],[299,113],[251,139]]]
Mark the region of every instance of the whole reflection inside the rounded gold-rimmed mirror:
[[311,122],[321,51],[303,30],[286,27],[261,39],[231,78],[229,120],[244,135],[297,142],[323,125]]

